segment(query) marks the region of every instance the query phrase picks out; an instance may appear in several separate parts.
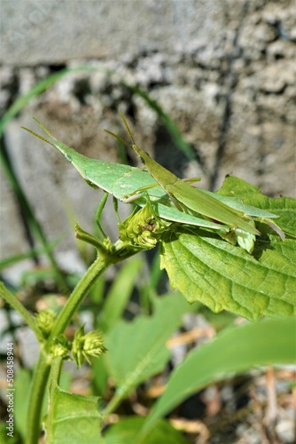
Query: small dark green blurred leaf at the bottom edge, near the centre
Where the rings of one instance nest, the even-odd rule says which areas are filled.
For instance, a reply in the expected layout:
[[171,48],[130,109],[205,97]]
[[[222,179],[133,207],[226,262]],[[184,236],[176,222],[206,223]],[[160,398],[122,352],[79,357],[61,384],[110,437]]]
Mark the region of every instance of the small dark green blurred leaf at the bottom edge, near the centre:
[[[105,432],[105,444],[140,444],[137,434],[142,429],[144,421],[144,418],[136,416],[121,419]],[[164,420],[156,421],[153,429],[141,440],[141,444],[186,444],[186,442],[183,435]]]

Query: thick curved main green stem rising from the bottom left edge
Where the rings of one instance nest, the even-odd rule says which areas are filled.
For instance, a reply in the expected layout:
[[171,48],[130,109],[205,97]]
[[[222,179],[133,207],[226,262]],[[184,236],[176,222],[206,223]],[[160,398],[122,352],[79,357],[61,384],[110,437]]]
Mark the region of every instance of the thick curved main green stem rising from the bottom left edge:
[[77,310],[79,305],[81,305],[82,300],[87,296],[91,286],[95,283],[95,281],[97,281],[97,278],[105,272],[105,269],[108,266],[116,262],[118,262],[118,259],[112,255],[97,258],[95,260],[68,298],[66,305],[61,313],[59,313],[58,318],[51,329],[50,337],[48,337],[43,350],[40,351],[32,380],[29,399],[30,407],[27,414],[27,444],[35,444],[38,442],[43,397],[51,369],[50,351],[53,340],[55,337],[58,337],[58,335],[65,331],[66,326],[74,315],[74,312]]

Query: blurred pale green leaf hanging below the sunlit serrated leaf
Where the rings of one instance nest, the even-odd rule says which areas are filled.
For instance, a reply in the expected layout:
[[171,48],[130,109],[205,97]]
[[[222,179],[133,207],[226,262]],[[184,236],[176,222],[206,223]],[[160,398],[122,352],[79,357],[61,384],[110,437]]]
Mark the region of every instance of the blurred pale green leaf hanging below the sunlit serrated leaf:
[[[190,310],[180,294],[155,300],[152,316],[137,316],[132,322],[119,322],[105,338],[106,366],[118,392],[126,395],[136,385],[160,372],[170,353],[166,341]],[[164,321],[165,320],[165,321]]]

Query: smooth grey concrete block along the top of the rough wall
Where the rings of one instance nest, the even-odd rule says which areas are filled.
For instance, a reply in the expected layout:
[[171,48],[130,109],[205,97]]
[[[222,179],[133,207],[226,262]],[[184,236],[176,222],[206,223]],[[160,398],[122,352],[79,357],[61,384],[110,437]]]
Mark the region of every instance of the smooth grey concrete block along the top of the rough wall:
[[[244,2],[233,4],[239,12]],[[4,0],[2,9],[1,60],[26,66],[186,52],[217,36],[225,15],[215,0]]]

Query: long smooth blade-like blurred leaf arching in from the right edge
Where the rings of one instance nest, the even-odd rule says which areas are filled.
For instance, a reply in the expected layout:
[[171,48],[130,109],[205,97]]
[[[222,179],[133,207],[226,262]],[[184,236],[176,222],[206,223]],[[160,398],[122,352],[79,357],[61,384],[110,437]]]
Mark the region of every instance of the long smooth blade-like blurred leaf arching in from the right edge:
[[295,361],[295,319],[266,320],[224,330],[210,343],[193,350],[175,369],[167,389],[152,408],[144,430],[206,385],[253,366]]

